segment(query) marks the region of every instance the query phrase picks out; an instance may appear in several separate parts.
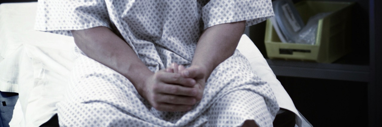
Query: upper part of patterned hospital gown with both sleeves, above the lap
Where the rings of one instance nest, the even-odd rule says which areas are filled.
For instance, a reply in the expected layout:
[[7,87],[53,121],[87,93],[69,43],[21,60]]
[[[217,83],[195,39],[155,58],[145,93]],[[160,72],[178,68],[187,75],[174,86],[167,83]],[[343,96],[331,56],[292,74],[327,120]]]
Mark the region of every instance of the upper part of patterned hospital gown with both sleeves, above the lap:
[[202,28],[242,20],[249,26],[273,14],[270,0],[41,0],[35,29],[71,35],[109,27],[157,71],[190,64]]

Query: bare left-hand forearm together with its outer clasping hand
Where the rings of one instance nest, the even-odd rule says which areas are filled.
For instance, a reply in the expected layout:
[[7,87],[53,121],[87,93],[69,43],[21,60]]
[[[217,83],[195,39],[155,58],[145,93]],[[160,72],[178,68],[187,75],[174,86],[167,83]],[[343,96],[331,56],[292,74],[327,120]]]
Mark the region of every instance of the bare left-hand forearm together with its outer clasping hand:
[[160,111],[188,111],[200,100],[200,93],[193,88],[196,84],[194,79],[164,70],[151,72],[133,49],[107,27],[72,31],[72,34],[78,48],[129,79],[139,95],[154,108]]

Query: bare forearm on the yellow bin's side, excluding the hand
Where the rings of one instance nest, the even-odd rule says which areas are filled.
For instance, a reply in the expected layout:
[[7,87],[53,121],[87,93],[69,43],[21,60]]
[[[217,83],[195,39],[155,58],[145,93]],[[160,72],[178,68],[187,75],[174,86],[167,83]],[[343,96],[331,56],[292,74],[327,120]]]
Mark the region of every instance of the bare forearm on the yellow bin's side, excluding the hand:
[[219,24],[207,28],[201,35],[192,65],[206,68],[206,79],[225,59],[233,55],[245,29],[245,21]]

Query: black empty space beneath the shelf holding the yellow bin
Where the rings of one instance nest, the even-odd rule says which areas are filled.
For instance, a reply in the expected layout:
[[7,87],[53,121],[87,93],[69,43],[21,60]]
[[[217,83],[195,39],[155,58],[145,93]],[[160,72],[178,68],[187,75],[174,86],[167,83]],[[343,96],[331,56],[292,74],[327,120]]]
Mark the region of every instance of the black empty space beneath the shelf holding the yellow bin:
[[367,83],[277,76],[314,127],[367,127]]

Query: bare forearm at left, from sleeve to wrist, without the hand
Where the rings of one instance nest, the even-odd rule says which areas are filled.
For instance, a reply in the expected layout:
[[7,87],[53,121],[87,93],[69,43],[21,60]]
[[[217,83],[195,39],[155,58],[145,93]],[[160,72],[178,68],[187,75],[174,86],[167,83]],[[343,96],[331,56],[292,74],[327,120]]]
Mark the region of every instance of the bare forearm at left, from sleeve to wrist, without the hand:
[[152,74],[129,45],[107,27],[72,31],[74,42],[89,58],[128,78],[137,90]]

